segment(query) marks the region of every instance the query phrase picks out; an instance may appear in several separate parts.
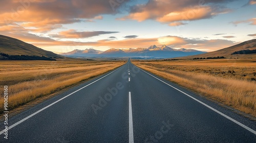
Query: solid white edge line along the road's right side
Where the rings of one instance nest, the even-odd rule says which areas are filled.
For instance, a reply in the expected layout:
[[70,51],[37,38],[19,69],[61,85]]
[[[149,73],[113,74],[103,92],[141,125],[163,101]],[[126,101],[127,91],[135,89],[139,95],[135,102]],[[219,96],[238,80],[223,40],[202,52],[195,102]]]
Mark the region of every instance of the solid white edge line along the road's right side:
[[[139,68],[139,69],[142,70],[141,68]],[[144,71],[144,70],[142,70],[142,71]],[[148,74],[146,71],[144,71],[144,72],[145,72],[146,74]],[[157,77],[155,77],[155,76],[153,76],[153,75],[151,75],[151,74],[148,74],[148,75],[150,75],[150,76],[152,76],[152,77],[158,79]],[[252,130],[251,128],[247,127],[246,125],[244,125],[244,124],[242,124],[242,123],[240,123],[240,122],[234,120],[233,118],[231,118],[231,117],[229,117],[228,115],[226,115],[226,114],[224,114],[224,113],[222,113],[222,112],[216,110],[215,108],[210,107],[209,105],[207,105],[207,104],[203,103],[202,101],[200,101],[200,100],[198,100],[198,99],[196,99],[196,98],[190,96],[189,94],[187,94],[187,93],[181,91],[180,89],[178,89],[178,88],[176,88],[176,87],[174,87],[174,86],[172,86],[172,85],[169,85],[168,83],[166,83],[166,82],[164,82],[164,81],[162,81],[162,80],[160,80],[160,79],[158,79],[158,80],[161,81],[161,82],[163,82],[163,83],[165,83],[165,84],[167,84],[167,85],[170,86],[170,87],[173,87],[174,89],[180,91],[181,93],[185,94],[185,95],[188,96],[189,98],[194,99],[195,101],[197,101],[197,102],[203,104],[204,106],[208,107],[209,109],[211,109],[211,110],[217,112],[218,114],[220,114],[220,115],[226,117],[228,120],[230,120],[230,121],[232,121],[232,122],[238,124],[239,126],[245,128],[246,130],[248,130],[248,131],[250,131],[250,132],[252,132],[253,134],[256,135],[256,131]]]

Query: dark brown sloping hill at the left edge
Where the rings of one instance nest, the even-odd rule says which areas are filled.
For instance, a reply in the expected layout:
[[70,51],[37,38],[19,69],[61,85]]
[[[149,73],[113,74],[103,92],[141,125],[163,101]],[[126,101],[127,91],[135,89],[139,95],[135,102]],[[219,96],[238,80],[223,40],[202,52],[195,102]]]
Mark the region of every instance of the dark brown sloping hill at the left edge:
[[0,35],[0,53],[8,55],[27,55],[27,56],[45,56],[56,59],[64,59],[61,55],[55,54],[36,47],[24,41],[11,38],[8,36]]

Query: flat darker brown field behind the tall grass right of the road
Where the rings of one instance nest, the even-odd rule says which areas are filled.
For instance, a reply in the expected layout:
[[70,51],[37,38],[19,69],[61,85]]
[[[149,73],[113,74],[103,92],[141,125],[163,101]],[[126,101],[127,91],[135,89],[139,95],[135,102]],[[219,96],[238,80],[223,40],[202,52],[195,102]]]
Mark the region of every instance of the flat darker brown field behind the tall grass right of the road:
[[[144,62],[144,61],[140,61]],[[256,60],[254,59],[215,59],[215,60],[178,60],[146,61],[147,65],[159,68],[204,73],[211,76],[255,80]]]

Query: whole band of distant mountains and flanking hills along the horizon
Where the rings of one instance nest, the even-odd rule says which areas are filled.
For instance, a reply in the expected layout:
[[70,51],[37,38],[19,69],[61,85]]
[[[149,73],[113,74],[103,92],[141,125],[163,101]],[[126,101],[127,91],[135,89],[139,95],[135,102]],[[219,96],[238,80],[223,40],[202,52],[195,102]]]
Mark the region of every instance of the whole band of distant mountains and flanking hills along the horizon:
[[[242,43],[226,47],[214,52],[201,52],[191,49],[173,49],[166,45],[158,47],[151,45],[148,48],[138,47],[137,49],[109,49],[107,51],[98,51],[94,49],[74,50],[61,55],[55,54],[36,47],[24,41],[0,35],[0,53],[8,55],[28,55],[39,57],[52,57],[57,60],[68,60],[67,57],[132,57],[132,58],[174,58],[192,59],[224,56],[225,58],[256,58],[256,39],[244,41]],[[203,53],[203,54],[202,54]],[[236,54],[240,53],[240,54]],[[199,55],[198,55],[199,54]],[[186,57],[184,57],[186,56]],[[6,60],[8,57],[0,54],[0,60]]]

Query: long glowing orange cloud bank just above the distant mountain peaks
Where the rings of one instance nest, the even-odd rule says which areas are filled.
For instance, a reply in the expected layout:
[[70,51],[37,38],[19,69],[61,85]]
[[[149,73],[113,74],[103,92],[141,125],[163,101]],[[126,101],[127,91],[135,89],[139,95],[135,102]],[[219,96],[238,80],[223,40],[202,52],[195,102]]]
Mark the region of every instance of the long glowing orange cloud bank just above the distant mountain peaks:
[[41,42],[35,42],[36,46],[108,46],[110,48],[135,48],[135,47],[148,47],[150,45],[156,44],[157,46],[162,46],[163,44],[170,47],[185,48],[185,49],[195,49],[206,52],[216,51],[223,49],[225,47],[237,44],[230,40],[223,39],[189,39],[182,38],[178,36],[164,36],[159,38],[133,38],[124,40],[98,40],[96,42],[76,42],[76,41],[56,41],[47,39],[40,39]]

